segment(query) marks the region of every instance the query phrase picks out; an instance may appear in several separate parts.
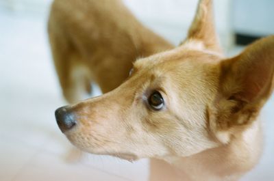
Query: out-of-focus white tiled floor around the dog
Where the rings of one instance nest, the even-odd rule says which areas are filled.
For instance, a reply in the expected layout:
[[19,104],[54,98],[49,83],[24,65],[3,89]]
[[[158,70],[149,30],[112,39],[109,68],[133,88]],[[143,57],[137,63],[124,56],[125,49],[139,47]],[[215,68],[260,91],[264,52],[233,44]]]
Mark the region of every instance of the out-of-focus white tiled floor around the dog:
[[[62,100],[55,77],[45,17],[0,11],[0,180],[145,181],[147,160],[127,163],[110,156],[84,156],[68,163],[71,144],[55,124]],[[262,161],[243,180],[274,180],[274,106],[266,105]]]

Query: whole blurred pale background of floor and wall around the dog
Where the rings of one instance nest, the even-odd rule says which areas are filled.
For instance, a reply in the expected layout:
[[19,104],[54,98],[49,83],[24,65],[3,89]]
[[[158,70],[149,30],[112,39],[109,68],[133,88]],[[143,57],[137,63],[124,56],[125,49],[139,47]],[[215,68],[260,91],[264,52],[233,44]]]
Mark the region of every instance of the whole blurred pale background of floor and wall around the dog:
[[[146,159],[127,163],[89,154],[66,160],[72,146],[53,116],[66,102],[47,39],[50,4],[51,0],[0,0],[0,180],[145,181]],[[125,0],[125,4],[147,27],[179,44],[186,37],[197,0]],[[257,38],[274,34],[272,0],[214,1],[214,8],[229,56]],[[95,94],[101,94],[99,89]],[[262,111],[262,159],[242,181],[274,180],[273,107],[272,96]]]

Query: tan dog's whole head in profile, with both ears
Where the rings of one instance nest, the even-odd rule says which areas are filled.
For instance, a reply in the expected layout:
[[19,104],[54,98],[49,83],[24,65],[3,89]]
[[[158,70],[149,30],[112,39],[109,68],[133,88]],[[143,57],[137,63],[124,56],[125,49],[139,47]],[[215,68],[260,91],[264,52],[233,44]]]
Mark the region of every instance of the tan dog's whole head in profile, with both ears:
[[177,48],[134,62],[108,94],[62,107],[62,132],[78,148],[125,159],[189,156],[229,143],[249,128],[271,95],[274,37],[225,59],[202,0]]

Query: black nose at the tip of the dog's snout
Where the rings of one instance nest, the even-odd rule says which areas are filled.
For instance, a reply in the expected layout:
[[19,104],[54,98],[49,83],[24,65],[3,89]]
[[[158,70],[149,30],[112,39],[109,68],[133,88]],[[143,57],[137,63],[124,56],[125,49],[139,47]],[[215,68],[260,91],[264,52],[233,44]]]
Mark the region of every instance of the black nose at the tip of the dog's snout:
[[66,107],[57,109],[55,111],[55,118],[62,133],[66,132],[66,130],[70,130],[77,124],[72,111]]

